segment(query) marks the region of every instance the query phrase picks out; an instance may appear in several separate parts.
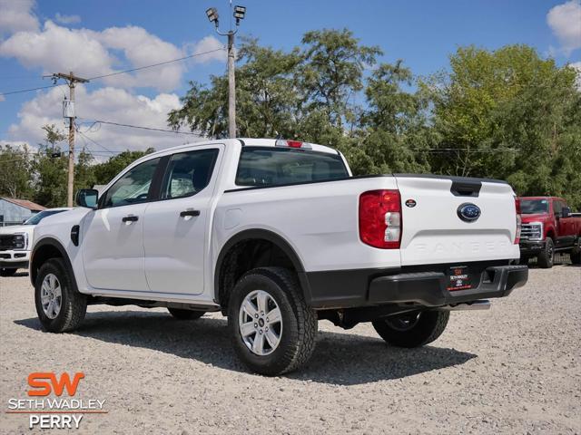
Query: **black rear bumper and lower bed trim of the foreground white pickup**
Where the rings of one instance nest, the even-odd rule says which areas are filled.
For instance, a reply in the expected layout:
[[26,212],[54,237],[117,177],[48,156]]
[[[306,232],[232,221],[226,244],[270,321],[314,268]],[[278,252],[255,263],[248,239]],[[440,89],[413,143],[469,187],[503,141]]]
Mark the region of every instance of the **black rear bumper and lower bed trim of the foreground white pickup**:
[[411,266],[393,269],[359,269],[306,273],[309,304],[315,309],[355,308],[385,304],[437,307],[509,295],[525,285],[527,266],[501,262],[468,263],[474,288],[448,291],[450,265]]

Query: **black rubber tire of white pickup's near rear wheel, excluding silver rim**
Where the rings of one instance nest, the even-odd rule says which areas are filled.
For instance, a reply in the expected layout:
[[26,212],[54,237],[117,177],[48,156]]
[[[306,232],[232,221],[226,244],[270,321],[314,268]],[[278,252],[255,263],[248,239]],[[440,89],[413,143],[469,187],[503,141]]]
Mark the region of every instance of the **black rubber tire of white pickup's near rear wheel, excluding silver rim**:
[[[251,351],[244,343],[239,326],[241,304],[247,295],[256,290],[268,293],[281,310],[280,342],[271,353],[265,355]],[[317,322],[317,314],[302,296],[297,276],[285,268],[252,269],[242,275],[232,289],[228,304],[232,344],[238,357],[253,372],[276,376],[308,362],[315,349]]]

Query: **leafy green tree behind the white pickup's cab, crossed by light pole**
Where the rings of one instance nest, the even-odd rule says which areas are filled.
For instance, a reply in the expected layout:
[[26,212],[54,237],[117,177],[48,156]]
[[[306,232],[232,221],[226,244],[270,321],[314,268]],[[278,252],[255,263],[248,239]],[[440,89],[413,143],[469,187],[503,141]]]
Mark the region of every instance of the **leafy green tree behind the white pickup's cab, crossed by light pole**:
[[[236,69],[240,136],[281,135],[340,146],[343,124],[355,124],[358,109],[348,101],[363,87],[365,66],[381,52],[361,45],[348,30],[309,32],[303,42],[303,48],[284,53],[256,39],[242,40]],[[169,125],[225,137],[227,90],[225,75],[212,76],[208,86],[191,82],[182,108],[169,113]]]

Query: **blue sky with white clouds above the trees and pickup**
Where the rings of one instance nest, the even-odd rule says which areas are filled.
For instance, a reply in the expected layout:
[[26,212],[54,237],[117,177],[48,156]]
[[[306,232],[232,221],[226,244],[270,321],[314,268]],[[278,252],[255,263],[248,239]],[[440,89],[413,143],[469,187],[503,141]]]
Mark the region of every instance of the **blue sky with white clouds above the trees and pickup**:
[[[212,5],[221,13],[222,27],[227,27],[225,0],[0,0],[0,92],[50,84],[41,76],[55,70],[74,67],[75,73],[99,75],[216,49],[223,40],[204,14]],[[579,0],[245,0],[243,5],[248,10],[240,34],[259,37],[261,43],[290,49],[306,31],[347,27],[362,43],[379,45],[385,53],[382,60],[403,59],[416,74],[446,68],[448,55],[467,44],[495,49],[527,43],[559,64],[581,66]],[[224,69],[218,52],[135,77],[95,81],[78,92],[77,114],[87,122],[106,118],[163,127],[165,113],[179,105],[188,80],[206,82],[210,74]],[[35,143],[42,138],[43,122],[63,125],[63,90],[6,95],[0,101],[0,143]],[[186,138],[104,126],[84,134],[113,150],[163,148]],[[89,143],[85,142],[94,147]]]

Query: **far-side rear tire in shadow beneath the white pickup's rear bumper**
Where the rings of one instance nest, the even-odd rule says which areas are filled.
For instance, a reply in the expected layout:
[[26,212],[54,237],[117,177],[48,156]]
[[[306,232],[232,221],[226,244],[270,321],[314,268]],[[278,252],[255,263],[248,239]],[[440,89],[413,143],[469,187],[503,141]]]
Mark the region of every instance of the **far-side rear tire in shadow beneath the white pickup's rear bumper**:
[[398,314],[373,322],[379,336],[399,347],[419,347],[436,340],[446,329],[449,311]]

